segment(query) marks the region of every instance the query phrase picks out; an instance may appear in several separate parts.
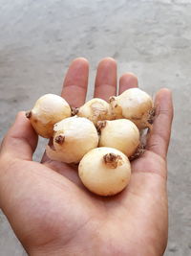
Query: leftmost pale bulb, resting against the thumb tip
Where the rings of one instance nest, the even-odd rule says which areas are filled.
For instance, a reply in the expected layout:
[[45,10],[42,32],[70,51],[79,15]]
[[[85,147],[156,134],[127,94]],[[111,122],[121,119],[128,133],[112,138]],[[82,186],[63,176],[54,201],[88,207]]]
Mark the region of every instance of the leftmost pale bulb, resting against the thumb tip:
[[44,138],[53,136],[53,125],[71,116],[71,107],[60,96],[45,94],[40,97],[31,111],[26,113],[36,133]]

